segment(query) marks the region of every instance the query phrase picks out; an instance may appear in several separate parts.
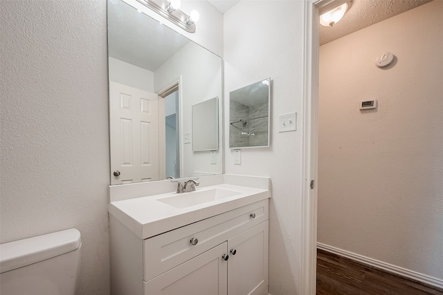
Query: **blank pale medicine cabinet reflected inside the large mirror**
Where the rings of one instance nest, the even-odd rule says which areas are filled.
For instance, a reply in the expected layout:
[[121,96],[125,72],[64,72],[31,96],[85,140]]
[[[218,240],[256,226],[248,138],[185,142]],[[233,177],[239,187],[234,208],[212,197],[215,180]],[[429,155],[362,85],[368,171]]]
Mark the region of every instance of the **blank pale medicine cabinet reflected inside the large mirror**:
[[192,106],[192,151],[217,151],[218,97]]

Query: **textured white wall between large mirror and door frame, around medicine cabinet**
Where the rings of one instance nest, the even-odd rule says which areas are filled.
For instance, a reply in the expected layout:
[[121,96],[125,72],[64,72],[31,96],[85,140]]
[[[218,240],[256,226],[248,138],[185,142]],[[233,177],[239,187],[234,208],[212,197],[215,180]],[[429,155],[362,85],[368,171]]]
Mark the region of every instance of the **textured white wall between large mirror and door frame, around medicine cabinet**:
[[[239,1],[224,14],[226,173],[270,176],[269,293],[300,294],[303,1]],[[271,146],[229,143],[229,92],[271,77]],[[298,131],[278,133],[278,115],[298,112]],[[301,295],[301,294],[300,294]]]

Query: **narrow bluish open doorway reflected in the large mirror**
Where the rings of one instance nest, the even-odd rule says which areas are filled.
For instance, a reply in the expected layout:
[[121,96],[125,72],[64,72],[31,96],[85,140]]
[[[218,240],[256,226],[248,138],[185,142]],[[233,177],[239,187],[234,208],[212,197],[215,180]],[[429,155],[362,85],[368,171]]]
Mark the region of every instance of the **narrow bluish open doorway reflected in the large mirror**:
[[165,164],[166,177],[180,177],[179,91],[165,97]]

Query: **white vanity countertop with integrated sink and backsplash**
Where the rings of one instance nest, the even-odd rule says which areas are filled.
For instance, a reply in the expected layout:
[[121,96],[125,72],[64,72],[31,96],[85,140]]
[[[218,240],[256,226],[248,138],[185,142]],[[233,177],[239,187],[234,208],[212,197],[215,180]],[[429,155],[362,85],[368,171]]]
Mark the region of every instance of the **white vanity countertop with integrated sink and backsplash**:
[[[242,181],[237,180],[237,177]],[[245,182],[249,187],[230,183],[203,186],[202,181],[200,187],[190,193],[175,193],[171,190],[167,193],[154,193],[159,191],[155,182],[146,182],[142,187],[137,184],[132,193],[145,193],[146,184],[149,184],[147,190],[152,194],[110,202],[109,213],[136,236],[145,239],[271,198],[269,178],[244,178],[236,175],[234,180],[235,183]],[[169,182],[167,184],[168,189],[175,189],[174,185]],[[120,193],[125,193],[129,187],[118,185],[113,186],[113,189],[114,193],[118,193],[116,189],[123,189]]]

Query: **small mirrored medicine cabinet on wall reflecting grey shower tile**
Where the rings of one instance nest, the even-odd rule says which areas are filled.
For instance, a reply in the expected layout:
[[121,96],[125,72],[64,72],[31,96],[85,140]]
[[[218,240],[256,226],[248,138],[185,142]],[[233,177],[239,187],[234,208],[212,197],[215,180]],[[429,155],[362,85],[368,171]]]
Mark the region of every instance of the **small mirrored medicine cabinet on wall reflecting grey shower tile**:
[[229,148],[269,146],[271,78],[229,93]]

